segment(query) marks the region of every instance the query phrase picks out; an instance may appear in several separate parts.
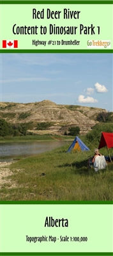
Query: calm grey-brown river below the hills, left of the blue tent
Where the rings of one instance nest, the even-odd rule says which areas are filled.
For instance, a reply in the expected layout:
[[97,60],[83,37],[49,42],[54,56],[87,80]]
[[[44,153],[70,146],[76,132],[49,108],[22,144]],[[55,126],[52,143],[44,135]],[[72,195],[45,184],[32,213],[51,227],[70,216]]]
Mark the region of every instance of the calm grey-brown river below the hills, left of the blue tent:
[[19,143],[0,143],[1,162],[13,161],[18,156],[33,156],[64,145],[71,145],[71,141],[37,141]]

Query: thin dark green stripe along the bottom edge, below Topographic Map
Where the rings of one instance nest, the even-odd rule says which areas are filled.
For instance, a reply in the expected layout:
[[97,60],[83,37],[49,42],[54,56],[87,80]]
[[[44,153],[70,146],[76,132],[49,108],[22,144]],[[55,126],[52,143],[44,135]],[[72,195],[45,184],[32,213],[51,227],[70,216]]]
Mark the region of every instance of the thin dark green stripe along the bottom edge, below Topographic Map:
[[16,256],[16,255],[22,255],[22,256],[24,256],[24,255],[27,255],[27,256],[29,256],[29,255],[32,255],[32,256],[34,256],[34,255],[38,255],[38,256],[42,256],[42,255],[45,255],[45,256],[52,256],[52,255],[54,255],[54,256],[56,256],[56,255],[61,255],[61,256],[82,256],[82,255],[84,255],[84,256],[93,256],[93,255],[98,255],[98,256],[104,256],[104,255],[106,255],[106,256],[110,256],[110,255],[113,255],[113,253],[112,252],[63,252],[63,253],[60,253],[60,252],[1,252],[1,254],[0,255],[3,255],[3,256],[6,256],[6,255],[11,255],[11,256]]

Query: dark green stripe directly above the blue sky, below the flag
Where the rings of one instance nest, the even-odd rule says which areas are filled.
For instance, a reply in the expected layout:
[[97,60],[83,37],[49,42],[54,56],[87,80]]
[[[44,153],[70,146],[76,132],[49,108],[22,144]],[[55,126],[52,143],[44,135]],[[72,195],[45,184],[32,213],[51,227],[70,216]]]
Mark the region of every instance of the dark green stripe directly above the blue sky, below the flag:
[[62,50],[62,49],[60,49],[60,50],[43,50],[43,49],[41,49],[41,50],[15,50],[15,49],[6,49],[6,50],[4,50],[4,49],[1,49],[0,50],[0,53],[113,53],[113,49],[102,49],[102,50],[100,50],[100,49],[96,49],[96,50],[88,50],[88,49],[86,49],[86,50],[68,50],[68,49],[66,49],[66,50]]

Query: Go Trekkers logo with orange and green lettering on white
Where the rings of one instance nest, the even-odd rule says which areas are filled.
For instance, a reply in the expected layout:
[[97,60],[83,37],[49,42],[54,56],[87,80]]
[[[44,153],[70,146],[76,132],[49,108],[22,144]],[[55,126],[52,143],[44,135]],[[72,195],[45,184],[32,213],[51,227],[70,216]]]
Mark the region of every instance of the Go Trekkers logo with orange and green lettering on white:
[[110,48],[109,40],[88,40],[87,48]]

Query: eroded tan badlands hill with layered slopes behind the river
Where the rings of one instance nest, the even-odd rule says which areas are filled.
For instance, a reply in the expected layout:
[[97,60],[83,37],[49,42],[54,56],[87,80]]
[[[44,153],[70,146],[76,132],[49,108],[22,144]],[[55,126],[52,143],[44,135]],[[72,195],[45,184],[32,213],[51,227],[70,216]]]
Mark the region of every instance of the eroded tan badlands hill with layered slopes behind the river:
[[1,102],[0,117],[11,124],[32,122],[34,132],[37,123],[49,122],[51,126],[48,131],[45,131],[46,133],[64,134],[64,131],[67,132],[69,127],[79,126],[80,134],[86,134],[93,125],[98,123],[96,116],[102,111],[107,112],[100,108],[57,105],[50,100],[26,104]]

